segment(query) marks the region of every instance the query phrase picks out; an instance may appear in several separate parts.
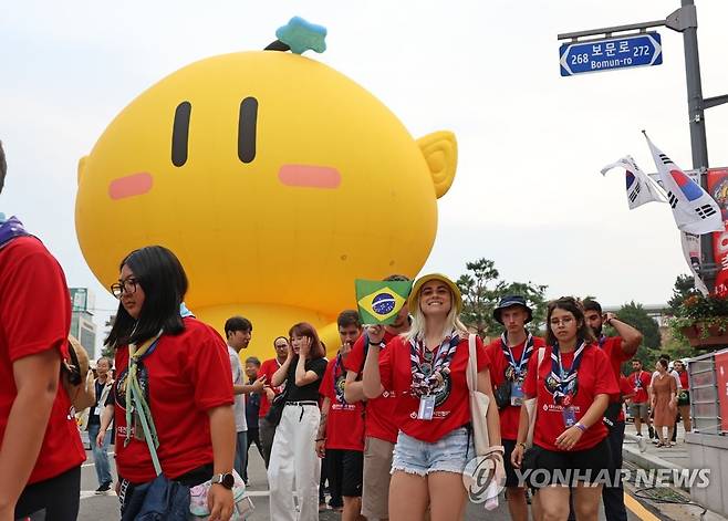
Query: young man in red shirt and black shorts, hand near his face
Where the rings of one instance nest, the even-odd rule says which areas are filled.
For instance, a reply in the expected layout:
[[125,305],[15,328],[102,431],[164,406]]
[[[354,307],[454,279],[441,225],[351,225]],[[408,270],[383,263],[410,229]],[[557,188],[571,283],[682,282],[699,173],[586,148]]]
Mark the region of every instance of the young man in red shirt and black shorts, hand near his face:
[[364,407],[344,398],[344,364],[352,346],[362,334],[356,311],[343,311],[336,320],[341,347],[329,361],[319,394],[321,423],[316,435],[316,452],[329,463],[331,497],[344,500],[343,521],[355,521],[362,510],[362,475],[364,469]]

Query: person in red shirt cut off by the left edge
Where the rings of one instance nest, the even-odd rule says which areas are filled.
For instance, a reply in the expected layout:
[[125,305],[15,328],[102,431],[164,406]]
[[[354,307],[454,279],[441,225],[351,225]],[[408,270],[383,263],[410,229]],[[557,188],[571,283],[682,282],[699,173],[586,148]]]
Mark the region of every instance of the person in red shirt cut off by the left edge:
[[[7,164],[0,144],[0,191]],[[76,519],[85,452],[65,388],[71,299],[63,270],[0,213],[0,519]],[[85,375],[83,375],[85,376]]]

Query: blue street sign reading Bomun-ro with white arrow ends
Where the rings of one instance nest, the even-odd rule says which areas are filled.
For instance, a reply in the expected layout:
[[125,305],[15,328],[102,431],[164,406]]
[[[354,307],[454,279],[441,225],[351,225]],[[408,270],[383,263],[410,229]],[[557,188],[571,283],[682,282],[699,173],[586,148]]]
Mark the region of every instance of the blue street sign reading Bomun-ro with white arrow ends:
[[564,43],[559,54],[562,76],[663,63],[662,40],[657,32]]

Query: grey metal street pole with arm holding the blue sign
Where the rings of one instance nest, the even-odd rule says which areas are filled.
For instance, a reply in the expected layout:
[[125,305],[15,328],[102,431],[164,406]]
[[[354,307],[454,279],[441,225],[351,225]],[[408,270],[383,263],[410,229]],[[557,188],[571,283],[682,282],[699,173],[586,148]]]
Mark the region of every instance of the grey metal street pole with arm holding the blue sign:
[[[683,33],[683,46],[685,50],[685,79],[687,84],[687,106],[690,125],[690,149],[693,152],[693,169],[700,171],[700,185],[708,189],[708,144],[705,132],[706,108],[728,103],[728,94],[716,97],[703,97],[703,85],[700,82],[700,59],[698,54],[698,18],[694,0],[682,0],[682,8],[673,12],[666,20],[657,20],[644,23],[632,23],[612,28],[592,29],[559,34],[559,40],[573,40],[579,38],[605,34],[611,37],[614,32],[641,31],[648,28],[667,27]],[[700,237],[700,278],[708,288],[715,291],[716,274],[718,267],[713,252],[713,233]]]

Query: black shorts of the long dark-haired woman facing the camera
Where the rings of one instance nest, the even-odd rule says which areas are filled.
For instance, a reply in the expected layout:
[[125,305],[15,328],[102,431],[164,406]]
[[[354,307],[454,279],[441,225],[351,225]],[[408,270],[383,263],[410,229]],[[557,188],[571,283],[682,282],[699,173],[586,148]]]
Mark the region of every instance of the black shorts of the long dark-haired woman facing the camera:
[[574,486],[576,482],[609,484],[616,479],[610,444],[604,438],[585,450],[548,450],[533,446],[533,466],[524,473],[531,488],[549,484]]

